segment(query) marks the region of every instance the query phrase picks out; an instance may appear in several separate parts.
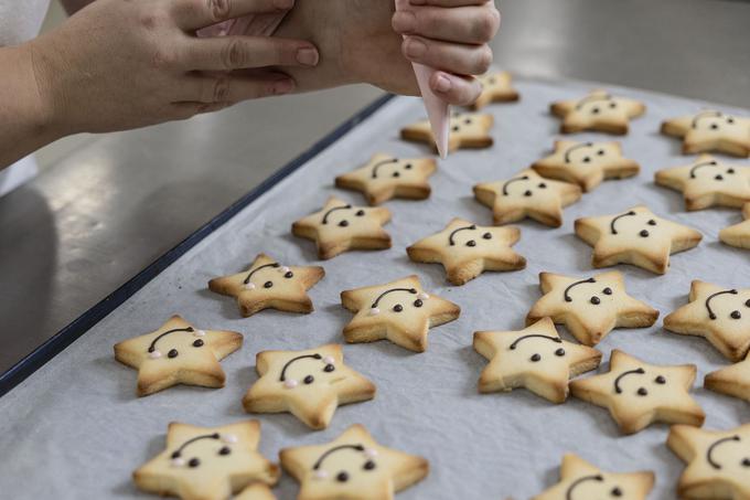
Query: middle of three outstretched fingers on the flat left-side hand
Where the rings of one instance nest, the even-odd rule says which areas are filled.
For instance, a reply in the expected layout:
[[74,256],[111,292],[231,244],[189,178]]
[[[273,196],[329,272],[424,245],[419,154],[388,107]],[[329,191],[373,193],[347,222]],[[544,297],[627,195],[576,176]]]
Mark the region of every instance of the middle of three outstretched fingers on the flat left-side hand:
[[191,38],[185,45],[182,65],[186,70],[315,66],[320,58],[310,42],[270,36]]

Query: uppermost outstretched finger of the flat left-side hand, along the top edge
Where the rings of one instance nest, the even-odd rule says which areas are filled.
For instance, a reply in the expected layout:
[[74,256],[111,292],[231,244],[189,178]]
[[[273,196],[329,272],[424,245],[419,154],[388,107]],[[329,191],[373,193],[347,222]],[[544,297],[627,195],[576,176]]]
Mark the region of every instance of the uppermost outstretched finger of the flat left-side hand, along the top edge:
[[199,30],[255,13],[286,12],[294,0],[172,0],[171,13],[183,30]]

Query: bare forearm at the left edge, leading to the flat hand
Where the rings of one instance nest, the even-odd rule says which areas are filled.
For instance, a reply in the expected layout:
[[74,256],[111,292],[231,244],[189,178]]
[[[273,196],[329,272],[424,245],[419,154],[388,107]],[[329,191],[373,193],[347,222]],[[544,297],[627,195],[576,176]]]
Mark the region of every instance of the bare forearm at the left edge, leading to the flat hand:
[[26,45],[0,49],[0,170],[58,137],[44,113]]

